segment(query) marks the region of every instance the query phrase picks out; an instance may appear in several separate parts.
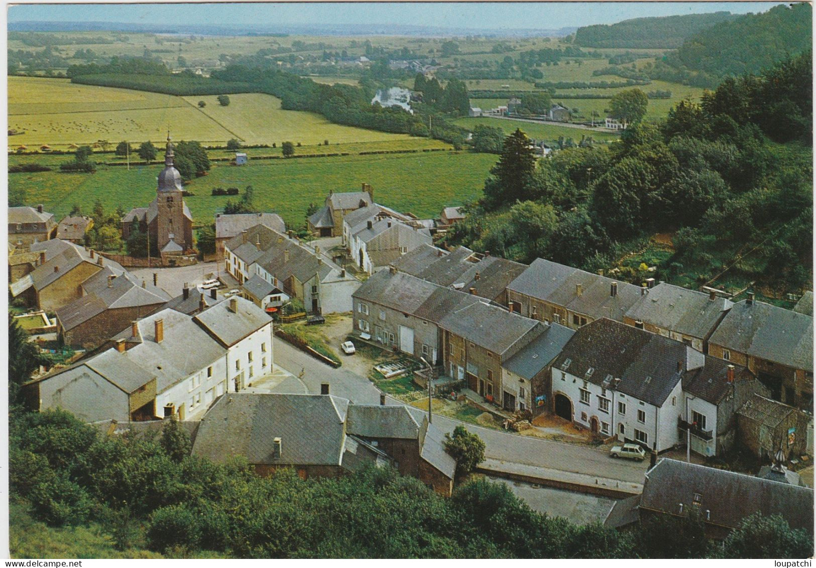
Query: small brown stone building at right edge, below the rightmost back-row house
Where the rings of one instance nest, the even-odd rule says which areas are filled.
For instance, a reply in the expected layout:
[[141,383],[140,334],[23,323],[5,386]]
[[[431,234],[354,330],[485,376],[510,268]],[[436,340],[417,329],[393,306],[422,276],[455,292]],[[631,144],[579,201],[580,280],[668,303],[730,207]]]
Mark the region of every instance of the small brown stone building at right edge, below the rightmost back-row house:
[[779,450],[790,459],[808,451],[811,418],[801,410],[760,394],[737,410],[739,441],[757,458],[767,461]]

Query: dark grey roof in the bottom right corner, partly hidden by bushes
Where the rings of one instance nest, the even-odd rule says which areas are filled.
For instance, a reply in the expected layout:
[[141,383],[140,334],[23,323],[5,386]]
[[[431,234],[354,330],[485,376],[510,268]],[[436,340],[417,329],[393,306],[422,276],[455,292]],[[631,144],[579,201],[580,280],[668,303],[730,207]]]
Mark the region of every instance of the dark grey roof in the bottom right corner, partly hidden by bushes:
[[682,503],[685,514],[695,494],[700,511],[710,512],[715,525],[734,528],[758,511],[781,515],[792,529],[813,530],[813,490],[675,459],[661,459],[646,473],[640,506],[678,515]]

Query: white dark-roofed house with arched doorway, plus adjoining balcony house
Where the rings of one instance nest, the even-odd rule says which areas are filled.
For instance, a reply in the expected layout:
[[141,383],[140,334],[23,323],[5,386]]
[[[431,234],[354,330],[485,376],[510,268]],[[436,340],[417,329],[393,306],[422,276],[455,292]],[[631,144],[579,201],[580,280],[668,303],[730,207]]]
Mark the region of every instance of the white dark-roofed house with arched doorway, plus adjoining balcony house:
[[548,408],[574,424],[657,452],[690,429],[691,450],[706,456],[733,444],[736,410],[765,392],[744,367],[607,318],[575,332],[551,380]]

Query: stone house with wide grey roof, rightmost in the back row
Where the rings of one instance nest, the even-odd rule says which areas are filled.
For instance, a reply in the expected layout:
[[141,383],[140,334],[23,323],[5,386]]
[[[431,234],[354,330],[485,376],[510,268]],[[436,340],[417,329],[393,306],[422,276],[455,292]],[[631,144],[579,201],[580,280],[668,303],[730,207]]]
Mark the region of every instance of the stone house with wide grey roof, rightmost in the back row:
[[753,294],[734,304],[708,340],[708,353],[747,366],[771,398],[812,410],[814,318],[757,302]]

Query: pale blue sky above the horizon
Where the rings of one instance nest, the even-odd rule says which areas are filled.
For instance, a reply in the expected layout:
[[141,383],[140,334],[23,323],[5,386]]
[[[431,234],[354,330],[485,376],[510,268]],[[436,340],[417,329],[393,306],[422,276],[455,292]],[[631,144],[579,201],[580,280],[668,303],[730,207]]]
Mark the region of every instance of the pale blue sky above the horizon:
[[8,21],[132,24],[410,24],[442,28],[558,29],[645,16],[767,11],[780,2],[308,2],[196,4],[49,4],[8,9]]

